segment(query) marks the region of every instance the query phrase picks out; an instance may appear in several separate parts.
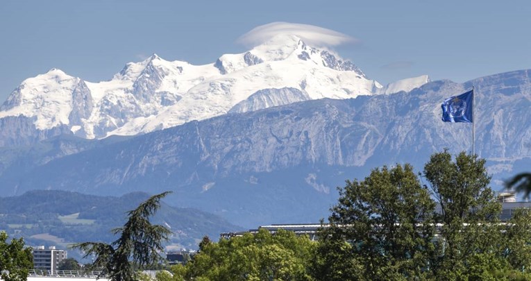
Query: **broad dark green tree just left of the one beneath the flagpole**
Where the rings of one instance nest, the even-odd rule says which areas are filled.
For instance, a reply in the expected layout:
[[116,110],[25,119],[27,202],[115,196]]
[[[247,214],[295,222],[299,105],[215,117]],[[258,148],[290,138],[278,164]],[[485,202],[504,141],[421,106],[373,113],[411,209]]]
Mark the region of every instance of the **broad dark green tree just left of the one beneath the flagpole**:
[[[330,226],[319,233],[319,280],[425,276],[435,203],[409,164],[373,169],[339,188]],[[361,269],[361,271],[360,271]]]

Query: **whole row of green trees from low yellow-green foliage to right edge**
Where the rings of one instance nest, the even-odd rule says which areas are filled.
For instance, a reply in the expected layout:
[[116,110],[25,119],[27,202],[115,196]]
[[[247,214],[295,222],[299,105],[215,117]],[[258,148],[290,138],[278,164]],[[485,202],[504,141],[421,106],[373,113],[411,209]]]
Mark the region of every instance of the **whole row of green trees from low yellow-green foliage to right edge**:
[[347,181],[319,241],[266,230],[203,239],[162,280],[531,280],[531,213],[501,222],[485,161],[435,153]]

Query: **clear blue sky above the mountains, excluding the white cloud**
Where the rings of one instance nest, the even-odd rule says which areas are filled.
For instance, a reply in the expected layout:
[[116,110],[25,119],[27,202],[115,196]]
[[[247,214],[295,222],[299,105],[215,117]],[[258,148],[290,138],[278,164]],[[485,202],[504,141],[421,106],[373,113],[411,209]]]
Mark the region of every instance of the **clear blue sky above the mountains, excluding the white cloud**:
[[248,49],[271,22],[328,28],[335,46],[382,84],[428,74],[464,82],[531,68],[530,1],[0,1],[0,103],[56,67],[108,80],[152,53],[200,65]]

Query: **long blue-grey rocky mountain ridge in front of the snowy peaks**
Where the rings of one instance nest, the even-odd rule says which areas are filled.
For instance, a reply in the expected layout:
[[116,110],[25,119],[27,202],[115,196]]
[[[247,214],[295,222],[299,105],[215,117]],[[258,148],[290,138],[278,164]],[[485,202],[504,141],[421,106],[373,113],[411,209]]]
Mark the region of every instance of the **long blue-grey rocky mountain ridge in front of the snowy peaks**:
[[168,198],[253,227],[314,222],[344,180],[383,164],[421,171],[431,153],[471,150],[471,124],[441,121],[444,98],[475,86],[476,153],[495,180],[531,157],[531,71],[464,84],[435,81],[411,92],[302,101],[134,137],[53,160],[4,185],[123,194],[171,189]]

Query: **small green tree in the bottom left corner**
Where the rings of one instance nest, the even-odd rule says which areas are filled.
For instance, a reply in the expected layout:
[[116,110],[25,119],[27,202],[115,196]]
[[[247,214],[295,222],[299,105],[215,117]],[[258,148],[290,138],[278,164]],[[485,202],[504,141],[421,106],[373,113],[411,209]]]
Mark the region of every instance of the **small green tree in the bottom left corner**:
[[0,277],[4,281],[26,281],[29,269],[33,268],[31,248],[24,248],[24,239],[12,239],[0,232]]

